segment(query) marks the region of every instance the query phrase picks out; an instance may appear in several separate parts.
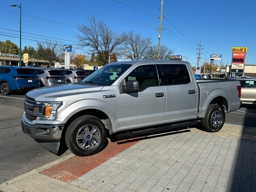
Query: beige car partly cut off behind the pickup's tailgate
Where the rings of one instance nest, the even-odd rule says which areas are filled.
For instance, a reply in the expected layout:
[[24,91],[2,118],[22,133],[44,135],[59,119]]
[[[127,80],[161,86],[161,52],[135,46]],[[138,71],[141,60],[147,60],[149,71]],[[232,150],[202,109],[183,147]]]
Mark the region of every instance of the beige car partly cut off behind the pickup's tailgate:
[[241,102],[243,104],[256,104],[256,79],[236,78],[241,83]]

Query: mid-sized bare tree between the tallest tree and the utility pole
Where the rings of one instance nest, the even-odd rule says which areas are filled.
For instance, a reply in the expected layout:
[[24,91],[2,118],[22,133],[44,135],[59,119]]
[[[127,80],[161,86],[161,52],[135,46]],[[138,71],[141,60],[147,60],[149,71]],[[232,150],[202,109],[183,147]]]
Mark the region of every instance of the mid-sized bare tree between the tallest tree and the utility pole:
[[152,46],[151,38],[145,38],[141,33],[134,33],[133,30],[124,32],[123,38],[122,56],[125,59],[142,60],[146,58]]

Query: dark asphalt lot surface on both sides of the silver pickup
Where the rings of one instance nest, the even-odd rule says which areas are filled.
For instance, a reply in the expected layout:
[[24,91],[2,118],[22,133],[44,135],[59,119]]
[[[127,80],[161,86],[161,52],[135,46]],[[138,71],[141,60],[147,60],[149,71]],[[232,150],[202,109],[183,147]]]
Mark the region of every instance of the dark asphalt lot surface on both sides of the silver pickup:
[[[24,94],[0,95],[0,183],[62,156],[42,148],[21,130]],[[226,123],[255,127],[255,106],[242,106],[226,115]]]

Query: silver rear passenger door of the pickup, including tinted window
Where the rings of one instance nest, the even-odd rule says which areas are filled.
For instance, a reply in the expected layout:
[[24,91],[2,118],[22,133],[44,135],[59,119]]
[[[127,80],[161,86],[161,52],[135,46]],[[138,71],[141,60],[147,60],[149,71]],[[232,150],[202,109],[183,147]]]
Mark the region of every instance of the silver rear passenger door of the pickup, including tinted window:
[[161,64],[161,69],[166,87],[166,122],[196,118],[198,93],[186,65]]

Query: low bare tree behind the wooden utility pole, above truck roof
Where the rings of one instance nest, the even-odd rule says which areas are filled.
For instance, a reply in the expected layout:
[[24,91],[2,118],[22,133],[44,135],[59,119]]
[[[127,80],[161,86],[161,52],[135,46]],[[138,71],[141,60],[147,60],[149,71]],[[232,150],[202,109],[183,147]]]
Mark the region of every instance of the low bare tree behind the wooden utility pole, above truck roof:
[[[156,60],[157,45],[150,47],[146,59]],[[160,46],[159,60],[168,60],[169,56],[173,54],[173,50],[166,45]]]

